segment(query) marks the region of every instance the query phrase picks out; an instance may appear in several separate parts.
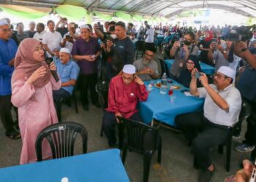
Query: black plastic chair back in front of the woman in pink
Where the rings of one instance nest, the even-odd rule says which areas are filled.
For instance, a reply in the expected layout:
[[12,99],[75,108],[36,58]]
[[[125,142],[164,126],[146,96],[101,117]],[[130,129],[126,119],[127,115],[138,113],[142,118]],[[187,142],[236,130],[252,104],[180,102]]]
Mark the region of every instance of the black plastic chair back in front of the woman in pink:
[[83,154],[87,153],[88,133],[85,127],[75,122],[52,124],[39,132],[36,141],[37,161],[42,161],[42,141],[50,145],[53,159],[74,155],[75,140],[80,133],[83,143]]

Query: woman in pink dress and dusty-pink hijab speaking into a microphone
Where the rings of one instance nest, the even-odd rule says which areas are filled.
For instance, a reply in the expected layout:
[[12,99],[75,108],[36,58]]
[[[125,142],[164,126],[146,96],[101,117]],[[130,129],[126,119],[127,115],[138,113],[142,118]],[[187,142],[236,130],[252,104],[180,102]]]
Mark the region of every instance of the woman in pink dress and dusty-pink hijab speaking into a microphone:
[[[12,74],[12,103],[18,108],[20,134],[23,141],[20,165],[36,162],[35,141],[39,132],[50,124],[57,123],[53,104],[53,90],[59,90],[50,74],[56,70],[45,63],[42,44],[36,39],[24,39],[15,56],[15,71]],[[50,158],[48,143],[42,143],[43,158]]]

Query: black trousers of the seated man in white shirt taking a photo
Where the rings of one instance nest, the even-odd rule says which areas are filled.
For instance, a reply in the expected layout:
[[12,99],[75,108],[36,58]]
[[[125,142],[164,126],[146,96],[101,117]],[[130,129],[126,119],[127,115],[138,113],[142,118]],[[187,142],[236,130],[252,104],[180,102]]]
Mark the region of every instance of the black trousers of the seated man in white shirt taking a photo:
[[192,140],[195,162],[204,170],[212,164],[211,148],[224,143],[230,135],[230,128],[208,121],[202,112],[178,115],[176,124]]

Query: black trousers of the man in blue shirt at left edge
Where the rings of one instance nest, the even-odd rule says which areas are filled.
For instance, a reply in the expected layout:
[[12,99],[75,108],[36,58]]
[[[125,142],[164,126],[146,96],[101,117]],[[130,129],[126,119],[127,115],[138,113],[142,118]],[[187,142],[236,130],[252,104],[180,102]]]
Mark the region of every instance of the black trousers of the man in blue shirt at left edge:
[[[6,132],[11,132],[12,130],[14,130],[15,126],[15,122],[13,122],[11,113],[11,96],[12,95],[0,95],[0,117]],[[17,109],[15,111],[17,111]]]

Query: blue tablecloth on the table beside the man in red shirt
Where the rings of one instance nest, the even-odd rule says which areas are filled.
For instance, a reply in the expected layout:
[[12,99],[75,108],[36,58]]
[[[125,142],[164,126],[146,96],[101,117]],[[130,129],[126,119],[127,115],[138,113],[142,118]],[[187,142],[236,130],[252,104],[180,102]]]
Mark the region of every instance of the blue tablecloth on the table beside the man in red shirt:
[[[153,81],[145,82],[146,87]],[[157,81],[154,81],[156,83]],[[174,119],[178,114],[189,113],[192,111],[200,111],[203,109],[203,99],[194,96],[188,97],[184,95],[182,90],[188,90],[177,82],[173,84],[181,86],[180,90],[173,90],[174,99],[171,100],[168,93],[160,94],[160,90],[154,87],[148,95],[146,102],[140,102],[140,116],[143,122],[150,123],[152,119],[157,119],[166,124],[175,126]],[[173,85],[170,84],[170,85]]]

